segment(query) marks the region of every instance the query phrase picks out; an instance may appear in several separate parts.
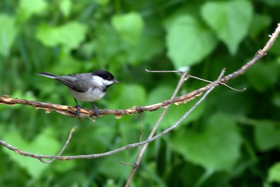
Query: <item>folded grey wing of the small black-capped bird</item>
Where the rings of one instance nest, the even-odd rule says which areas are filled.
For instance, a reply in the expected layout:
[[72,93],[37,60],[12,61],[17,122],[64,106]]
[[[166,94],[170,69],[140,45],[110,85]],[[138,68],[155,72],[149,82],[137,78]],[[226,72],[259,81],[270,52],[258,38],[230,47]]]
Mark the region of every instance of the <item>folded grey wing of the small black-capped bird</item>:
[[78,74],[59,76],[56,78],[56,80],[62,82],[66,86],[80,93],[86,92],[88,90],[85,88],[85,86],[83,86],[83,84],[81,84],[81,80]]

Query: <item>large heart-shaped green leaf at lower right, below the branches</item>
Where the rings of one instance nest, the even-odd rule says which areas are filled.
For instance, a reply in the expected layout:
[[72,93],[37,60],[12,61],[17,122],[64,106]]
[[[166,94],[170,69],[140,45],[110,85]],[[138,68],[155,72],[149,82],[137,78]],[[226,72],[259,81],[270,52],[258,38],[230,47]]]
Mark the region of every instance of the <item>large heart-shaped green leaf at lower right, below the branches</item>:
[[212,116],[202,132],[176,131],[171,142],[176,152],[206,170],[230,170],[240,157],[240,134],[232,117],[225,114]]

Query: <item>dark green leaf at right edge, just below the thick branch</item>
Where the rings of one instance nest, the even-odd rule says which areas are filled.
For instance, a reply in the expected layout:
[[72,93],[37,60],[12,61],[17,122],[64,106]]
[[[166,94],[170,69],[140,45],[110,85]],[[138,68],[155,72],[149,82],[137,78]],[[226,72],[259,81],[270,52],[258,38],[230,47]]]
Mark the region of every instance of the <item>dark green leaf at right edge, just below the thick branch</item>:
[[271,63],[255,63],[247,72],[246,76],[251,86],[257,91],[264,92],[273,86],[278,80],[279,65]]

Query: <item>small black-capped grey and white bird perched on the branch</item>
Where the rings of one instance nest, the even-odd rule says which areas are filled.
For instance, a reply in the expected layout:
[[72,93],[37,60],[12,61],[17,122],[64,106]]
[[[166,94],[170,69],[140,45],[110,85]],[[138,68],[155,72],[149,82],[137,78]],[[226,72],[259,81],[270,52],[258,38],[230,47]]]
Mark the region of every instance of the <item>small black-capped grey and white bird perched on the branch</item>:
[[54,75],[48,72],[36,73],[36,75],[41,75],[58,80],[68,86],[71,95],[73,96],[77,113],[76,115],[80,118],[81,108],[77,100],[90,102],[92,109],[95,110],[96,117],[99,116],[99,111],[97,107],[91,102],[101,99],[109,86],[114,83],[119,83],[118,80],[114,79],[114,76],[105,70],[96,70],[91,73],[77,73],[70,75]]

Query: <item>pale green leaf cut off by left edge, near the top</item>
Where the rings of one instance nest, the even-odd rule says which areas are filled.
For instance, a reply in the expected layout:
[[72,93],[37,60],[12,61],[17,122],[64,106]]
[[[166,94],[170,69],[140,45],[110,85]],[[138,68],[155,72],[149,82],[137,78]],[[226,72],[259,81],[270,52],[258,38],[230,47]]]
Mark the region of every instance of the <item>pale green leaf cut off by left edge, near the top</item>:
[[0,25],[0,54],[7,57],[18,29],[15,26],[15,19],[6,14],[0,14]]

